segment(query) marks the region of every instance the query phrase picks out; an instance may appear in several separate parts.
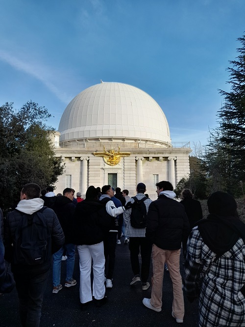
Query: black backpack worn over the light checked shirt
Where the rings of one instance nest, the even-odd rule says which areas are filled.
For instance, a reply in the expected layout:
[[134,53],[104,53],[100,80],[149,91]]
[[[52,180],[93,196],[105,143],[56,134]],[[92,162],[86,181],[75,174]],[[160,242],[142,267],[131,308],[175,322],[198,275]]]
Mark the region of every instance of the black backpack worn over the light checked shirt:
[[130,223],[134,228],[145,228],[147,226],[147,208],[144,201],[147,197],[143,197],[138,200],[136,196],[133,196],[134,203],[132,203]]

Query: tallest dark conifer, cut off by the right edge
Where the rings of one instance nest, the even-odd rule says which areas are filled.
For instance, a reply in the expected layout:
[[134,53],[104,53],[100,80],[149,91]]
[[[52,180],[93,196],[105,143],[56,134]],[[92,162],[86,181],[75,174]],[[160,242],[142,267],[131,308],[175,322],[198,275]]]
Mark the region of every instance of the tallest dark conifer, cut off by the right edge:
[[230,61],[233,67],[227,69],[231,90],[220,90],[224,104],[218,113],[220,150],[226,158],[227,177],[231,178],[232,184],[234,181],[245,181],[245,35],[238,40],[242,44],[237,49],[239,56]]

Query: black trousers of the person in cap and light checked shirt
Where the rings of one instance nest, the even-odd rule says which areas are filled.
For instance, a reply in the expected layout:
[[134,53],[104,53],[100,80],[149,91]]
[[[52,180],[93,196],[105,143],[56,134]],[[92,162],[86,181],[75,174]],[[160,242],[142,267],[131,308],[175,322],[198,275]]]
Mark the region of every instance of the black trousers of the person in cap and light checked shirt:
[[[145,237],[130,237],[129,250],[130,261],[134,275],[140,275],[142,283],[146,283],[149,277],[150,256],[152,245]],[[141,253],[141,274],[139,253]]]

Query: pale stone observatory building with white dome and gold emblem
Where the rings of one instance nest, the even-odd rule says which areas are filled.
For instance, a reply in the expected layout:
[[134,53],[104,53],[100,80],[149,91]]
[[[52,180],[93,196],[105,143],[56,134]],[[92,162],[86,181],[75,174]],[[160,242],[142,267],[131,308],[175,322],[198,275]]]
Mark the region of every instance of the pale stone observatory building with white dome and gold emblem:
[[173,187],[190,173],[190,143],[172,144],[163,110],[137,87],[102,82],[79,93],[65,109],[54,133],[56,156],[65,172],[56,192],[72,187],[84,197],[90,185],[110,184],[136,193],[147,186],[155,199],[155,184],[169,180]]

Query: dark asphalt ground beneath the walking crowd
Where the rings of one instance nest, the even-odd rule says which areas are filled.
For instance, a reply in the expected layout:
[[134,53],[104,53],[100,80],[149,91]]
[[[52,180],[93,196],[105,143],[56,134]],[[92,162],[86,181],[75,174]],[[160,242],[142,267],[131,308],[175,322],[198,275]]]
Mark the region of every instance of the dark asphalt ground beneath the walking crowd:
[[[80,310],[79,299],[79,257],[76,251],[73,278],[77,284],[64,287],[66,261],[62,261],[61,284],[63,289],[52,294],[52,273],[49,273],[48,285],[45,291],[40,327],[176,327],[197,326],[198,302],[189,303],[185,300],[185,317],[183,324],[177,324],[172,318],[172,281],[168,272],[164,273],[163,305],[161,312],[148,309],[142,303],[143,298],[150,298],[151,287],[143,291],[141,284],[130,286],[133,273],[130,265],[128,245],[116,247],[116,264],[113,276],[113,288],[106,289],[107,303],[98,308],[93,302],[88,310]],[[183,275],[183,257],[181,255],[180,269]],[[151,284],[152,267],[148,281]],[[18,297],[16,289],[10,294],[0,296],[0,327],[21,326],[18,313]]]

